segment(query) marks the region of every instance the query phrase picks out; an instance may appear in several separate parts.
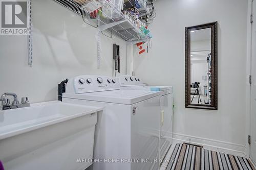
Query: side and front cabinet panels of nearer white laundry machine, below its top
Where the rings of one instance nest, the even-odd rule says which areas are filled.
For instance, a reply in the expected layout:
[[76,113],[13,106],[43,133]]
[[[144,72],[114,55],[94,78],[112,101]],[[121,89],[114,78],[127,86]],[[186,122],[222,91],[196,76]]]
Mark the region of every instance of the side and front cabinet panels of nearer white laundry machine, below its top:
[[[95,129],[94,158],[119,159],[119,163],[94,163],[93,169],[157,169],[159,158],[160,96],[133,105],[76,100],[63,102],[104,107],[98,112]],[[134,113],[134,108],[136,112]],[[121,159],[139,159],[122,163]],[[143,160],[152,163],[141,163]]]

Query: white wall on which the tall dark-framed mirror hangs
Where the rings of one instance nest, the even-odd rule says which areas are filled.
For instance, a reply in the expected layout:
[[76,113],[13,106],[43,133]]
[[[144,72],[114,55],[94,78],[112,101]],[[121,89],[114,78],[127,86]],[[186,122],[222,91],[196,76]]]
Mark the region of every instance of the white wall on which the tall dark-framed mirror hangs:
[[[247,1],[161,0],[155,9],[152,50],[134,56],[135,75],[151,85],[174,86],[175,134],[244,146]],[[186,109],[184,30],[212,21],[219,24],[218,111]]]

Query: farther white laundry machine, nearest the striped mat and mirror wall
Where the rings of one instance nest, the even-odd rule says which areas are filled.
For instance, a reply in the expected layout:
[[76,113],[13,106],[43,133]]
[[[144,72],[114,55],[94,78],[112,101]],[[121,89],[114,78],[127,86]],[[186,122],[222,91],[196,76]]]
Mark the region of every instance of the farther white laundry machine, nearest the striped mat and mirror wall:
[[160,91],[160,159],[166,155],[173,141],[173,87],[146,86],[140,78],[134,76],[119,76],[121,89]]

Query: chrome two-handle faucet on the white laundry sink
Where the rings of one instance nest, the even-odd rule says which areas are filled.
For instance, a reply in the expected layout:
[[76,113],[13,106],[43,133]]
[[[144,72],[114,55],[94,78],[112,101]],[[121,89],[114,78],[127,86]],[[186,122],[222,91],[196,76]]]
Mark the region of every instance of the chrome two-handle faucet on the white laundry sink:
[[[13,102],[10,103],[10,100],[6,98],[6,96],[13,96]],[[29,107],[29,100],[27,97],[22,98],[22,103],[20,104],[18,101],[17,94],[15,93],[4,93],[0,98],[0,110],[8,110],[8,109],[17,109],[22,107]]]

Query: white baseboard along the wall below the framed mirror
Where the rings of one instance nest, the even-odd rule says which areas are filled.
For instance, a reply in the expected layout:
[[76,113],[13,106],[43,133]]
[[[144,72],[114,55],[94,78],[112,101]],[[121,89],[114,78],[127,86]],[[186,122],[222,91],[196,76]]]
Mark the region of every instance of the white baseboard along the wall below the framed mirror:
[[179,133],[173,133],[173,142],[183,143],[191,142],[199,145],[203,145],[205,149],[223,152],[225,154],[232,154],[236,156],[247,157],[245,154],[245,145],[225,142],[214,139],[207,139],[197,136],[184,135]]

